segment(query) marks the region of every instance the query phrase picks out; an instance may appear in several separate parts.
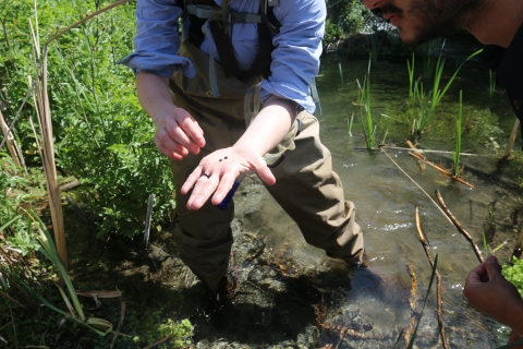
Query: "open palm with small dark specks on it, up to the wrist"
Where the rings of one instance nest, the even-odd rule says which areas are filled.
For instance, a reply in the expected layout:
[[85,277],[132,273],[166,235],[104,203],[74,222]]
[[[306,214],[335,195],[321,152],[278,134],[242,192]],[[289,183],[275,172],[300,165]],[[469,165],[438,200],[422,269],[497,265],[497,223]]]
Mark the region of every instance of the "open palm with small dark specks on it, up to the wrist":
[[211,196],[211,203],[219,205],[231,190],[234,180],[251,171],[255,171],[268,185],[276,182],[264,158],[253,148],[232,146],[207,155],[181,189],[182,194],[187,194],[193,189],[187,208],[198,209]]

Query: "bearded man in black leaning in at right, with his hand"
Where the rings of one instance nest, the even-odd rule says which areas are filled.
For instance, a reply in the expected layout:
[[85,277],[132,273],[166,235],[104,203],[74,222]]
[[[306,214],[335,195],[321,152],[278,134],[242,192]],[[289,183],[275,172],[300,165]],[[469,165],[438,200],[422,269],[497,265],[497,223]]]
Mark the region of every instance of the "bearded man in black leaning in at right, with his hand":
[[[469,31],[485,45],[483,64],[496,72],[515,116],[523,121],[523,1],[364,0],[364,3],[397,26],[400,38],[409,45],[426,43],[457,28]],[[463,293],[472,308],[510,326],[509,344],[514,344],[512,348],[523,348],[523,299],[503,277],[495,256],[469,273]]]

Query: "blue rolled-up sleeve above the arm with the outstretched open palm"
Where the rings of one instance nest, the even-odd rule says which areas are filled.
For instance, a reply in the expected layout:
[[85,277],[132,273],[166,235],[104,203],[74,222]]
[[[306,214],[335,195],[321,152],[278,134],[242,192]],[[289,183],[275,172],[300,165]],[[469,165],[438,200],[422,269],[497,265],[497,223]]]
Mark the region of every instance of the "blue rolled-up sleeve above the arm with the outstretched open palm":
[[311,83],[319,71],[326,7],[323,0],[280,1],[273,9],[281,24],[272,43],[270,76],[262,82],[260,97],[270,95],[291,99],[314,112]]

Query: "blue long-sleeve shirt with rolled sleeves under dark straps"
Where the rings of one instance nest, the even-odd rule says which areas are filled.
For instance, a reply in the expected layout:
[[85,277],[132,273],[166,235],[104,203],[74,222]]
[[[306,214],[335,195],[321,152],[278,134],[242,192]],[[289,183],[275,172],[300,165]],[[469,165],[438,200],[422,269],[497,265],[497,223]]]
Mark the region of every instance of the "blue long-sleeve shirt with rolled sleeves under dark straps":
[[[221,5],[222,0],[215,0]],[[231,11],[258,13],[259,0],[231,0]],[[195,75],[195,68],[187,58],[177,56],[180,47],[178,19],[182,9],[175,0],[138,0],[136,7],[137,34],[135,51],[121,63],[135,73],[142,70],[170,76],[182,70],[187,77]],[[321,38],[325,32],[326,8],[324,0],[280,0],[273,13],[281,24],[280,33],[272,37],[270,75],[260,85],[262,100],[270,95],[291,99],[314,112],[309,85],[319,70]],[[186,21],[188,24],[188,21]],[[240,69],[248,70],[258,50],[256,23],[236,23],[229,31]],[[209,55],[210,45],[204,39],[200,49]],[[216,61],[220,61],[214,48]]]

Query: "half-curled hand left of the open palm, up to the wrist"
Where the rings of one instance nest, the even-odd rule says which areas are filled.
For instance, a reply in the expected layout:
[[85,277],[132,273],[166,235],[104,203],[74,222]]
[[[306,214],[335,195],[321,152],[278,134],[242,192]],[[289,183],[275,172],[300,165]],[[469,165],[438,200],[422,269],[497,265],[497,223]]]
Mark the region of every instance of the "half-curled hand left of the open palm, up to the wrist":
[[185,109],[172,105],[170,111],[153,117],[153,121],[156,146],[170,158],[181,160],[188,153],[198,154],[205,146],[202,128]]

